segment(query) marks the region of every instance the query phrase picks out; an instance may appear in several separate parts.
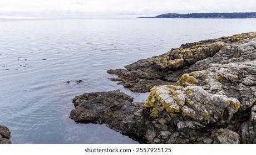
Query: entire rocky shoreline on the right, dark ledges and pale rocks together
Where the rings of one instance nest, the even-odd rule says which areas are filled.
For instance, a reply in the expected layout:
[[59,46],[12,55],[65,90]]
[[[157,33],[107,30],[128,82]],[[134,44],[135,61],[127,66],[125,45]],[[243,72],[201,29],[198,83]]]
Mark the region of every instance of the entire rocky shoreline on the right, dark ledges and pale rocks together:
[[256,33],[187,43],[107,71],[120,91],[73,99],[70,118],[105,123],[140,143],[256,143]]

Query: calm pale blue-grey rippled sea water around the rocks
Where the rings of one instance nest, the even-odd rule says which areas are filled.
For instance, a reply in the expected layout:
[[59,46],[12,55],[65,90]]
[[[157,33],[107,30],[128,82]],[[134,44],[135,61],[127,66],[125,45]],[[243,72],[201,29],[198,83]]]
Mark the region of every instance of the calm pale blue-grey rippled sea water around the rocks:
[[148,93],[116,85],[106,71],[183,43],[255,32],[255,25],[256,19],[0,19],[0,124],[13,143],[137,143],[105,125],[70,120],[73,97],[120,89],[145,101]]

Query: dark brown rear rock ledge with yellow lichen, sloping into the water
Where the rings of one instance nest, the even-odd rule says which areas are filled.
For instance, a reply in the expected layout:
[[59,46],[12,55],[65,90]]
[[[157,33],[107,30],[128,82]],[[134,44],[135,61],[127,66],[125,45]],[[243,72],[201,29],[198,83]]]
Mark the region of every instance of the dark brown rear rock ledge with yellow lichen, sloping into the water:
[[[136,63],[126,65],[125,69],[108,70],[107,73],[116,74],[119,78],[111,80],[120,81],[131,91],[147,92],[155,85],[168,85],[176,82],[184,73],[199,70],[206,66],[190,66],[199,60],[213,57],[226,45],[239,43],[244,39],[254,38],[255,33],[245,33],[232,37],[208,39],[195,43],[182,44],[178,49],[171,49],[167,53],[152,58],[139,60]],[[233,53],[234,54],[234,53]],[[237,55],[234,55],[237,57]],[[255,56],[255,55],[254,55]],[[219,60],[221,59],[221,60]],[[228,59],[228,58],[227,58]],[[224,60],[210,59],[205,63],[214,63]]]

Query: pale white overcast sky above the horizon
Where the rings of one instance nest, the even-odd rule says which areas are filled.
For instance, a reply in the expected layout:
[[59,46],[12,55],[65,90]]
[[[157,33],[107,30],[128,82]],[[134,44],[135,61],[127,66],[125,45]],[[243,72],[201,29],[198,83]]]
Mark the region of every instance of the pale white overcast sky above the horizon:
[[255,0],[0,0],[0,17],[154,16],[256,12]]

